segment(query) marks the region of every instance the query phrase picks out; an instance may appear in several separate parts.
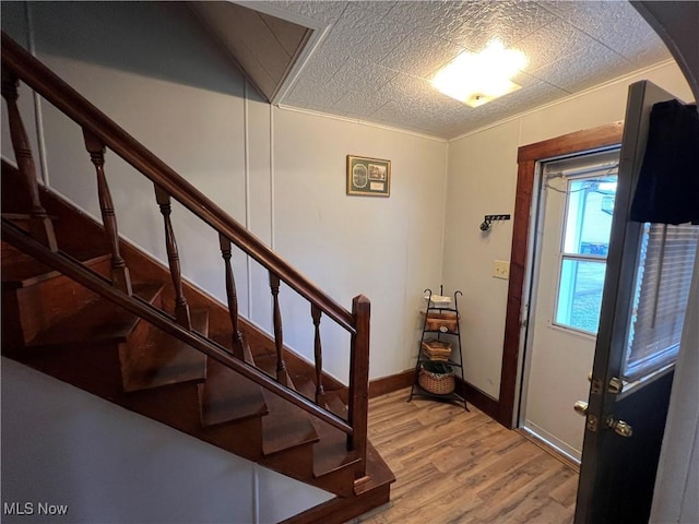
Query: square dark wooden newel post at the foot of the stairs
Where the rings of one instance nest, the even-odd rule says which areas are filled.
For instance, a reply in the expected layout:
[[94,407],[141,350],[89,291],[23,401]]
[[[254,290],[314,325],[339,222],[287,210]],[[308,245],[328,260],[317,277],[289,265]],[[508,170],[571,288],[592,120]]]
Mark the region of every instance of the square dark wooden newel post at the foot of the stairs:
[[350,349],[350,392],[347,420],[354,431],[347,436],[347,448],[356,450],[359,462],[355,469],[357,479],[366,476],[367,420],[369,415],[369,319],[371,302],[364,295],[352,301],[352,315],[356,332]]

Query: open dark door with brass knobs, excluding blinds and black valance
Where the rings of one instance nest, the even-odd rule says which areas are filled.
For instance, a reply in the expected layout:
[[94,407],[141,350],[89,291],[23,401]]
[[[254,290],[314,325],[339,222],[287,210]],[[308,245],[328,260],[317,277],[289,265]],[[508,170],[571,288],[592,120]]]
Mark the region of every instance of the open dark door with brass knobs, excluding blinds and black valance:
[[651,108],[655,103],[672,98],[671,94],[647,81],[629,87],[600,330],[585,414],[576,524],[645,523],[650,515],[673,368],[655,372],[645,381],[637,381],[620,393],[614,378],[621,378],[625,370],[643,227],[628,219],[631,196],[645,150]]

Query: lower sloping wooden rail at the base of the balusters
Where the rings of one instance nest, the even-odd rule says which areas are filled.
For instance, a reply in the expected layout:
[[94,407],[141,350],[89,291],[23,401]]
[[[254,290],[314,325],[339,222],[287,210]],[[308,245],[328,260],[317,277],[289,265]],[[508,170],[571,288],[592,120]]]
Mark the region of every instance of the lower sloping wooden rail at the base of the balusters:
[[135,295],[127,295],[118,287],[112,286],[111,283],[102,275],[84,267],[70,255],[61,251],[54,252],[44,247],[5,218],[2,218],[2,239],[32,255],[39,262],[60,271],[64,275],[82,284],[90,290],[112,301],[117,306],[141,317],[156,327],[159,327],[166,333],[186,342],[206,356],[240,373],[246,379],[251,380],[252,382],[291,402],[295,406],[347,433],[348,438],[354,434],[352,426],[333,413],[322,409],[294,390],[289,390],[288,388],[277,384],[264,372],[237,358],[234,358],[215,342],[179,325],[173,317],[151,306],[145,300]]

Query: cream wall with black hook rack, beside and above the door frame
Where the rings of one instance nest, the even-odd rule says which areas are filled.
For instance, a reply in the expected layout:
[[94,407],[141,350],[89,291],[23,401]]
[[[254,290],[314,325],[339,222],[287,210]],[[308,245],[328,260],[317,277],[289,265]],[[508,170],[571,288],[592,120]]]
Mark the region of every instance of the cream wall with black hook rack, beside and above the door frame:
[[638,80],[692,98],[679,69],[665,63],[449,143],[443,279],[464,291],[466,380],[494,398],[500,388],[508,283],[490,273],[494,260],[510,260],[512,222],[495,223],[488,235],[478,224],[487,214],[513,213],[519,146],[623,120],[628,85]]

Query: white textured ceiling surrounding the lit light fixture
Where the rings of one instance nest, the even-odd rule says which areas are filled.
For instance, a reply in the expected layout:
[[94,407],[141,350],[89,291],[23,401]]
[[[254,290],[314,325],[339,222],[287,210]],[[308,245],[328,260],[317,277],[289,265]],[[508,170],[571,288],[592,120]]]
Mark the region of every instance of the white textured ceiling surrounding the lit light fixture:
[[[670,57],[626,1],[272,1],[329,26],[283,106],[454,138]],[[521,90],[478,108],[429,80],[491,38],[529,57]]]

